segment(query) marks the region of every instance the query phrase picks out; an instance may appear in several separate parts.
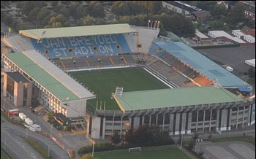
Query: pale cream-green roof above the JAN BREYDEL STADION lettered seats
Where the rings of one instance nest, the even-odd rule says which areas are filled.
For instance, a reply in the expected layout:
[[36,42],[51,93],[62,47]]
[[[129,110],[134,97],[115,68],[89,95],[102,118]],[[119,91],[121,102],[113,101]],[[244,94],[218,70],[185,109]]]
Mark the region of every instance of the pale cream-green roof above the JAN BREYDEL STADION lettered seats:
[[[41,34],[44,34],[41,36]],[[137,32],[128,24],[110,24],[98,26],[75,26],[66,28],[41,28],[19,31],[19,34],[33,39],[58,38],[71,36],[92,36],[105,34],[124,34]],[[41,37],[40,37],[41,36]]]

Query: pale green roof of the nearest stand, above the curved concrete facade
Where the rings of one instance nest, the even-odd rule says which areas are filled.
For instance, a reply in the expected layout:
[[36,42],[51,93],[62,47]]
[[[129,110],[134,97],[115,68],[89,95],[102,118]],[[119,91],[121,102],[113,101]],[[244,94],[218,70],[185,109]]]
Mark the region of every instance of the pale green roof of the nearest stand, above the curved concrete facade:
[[[213,98],[214,96],[214,98]],[[243,101],[224,88],[192,87],[162,90],[124,92],[116,101],[125,111],[158,109],[173,106],[190,106]]]

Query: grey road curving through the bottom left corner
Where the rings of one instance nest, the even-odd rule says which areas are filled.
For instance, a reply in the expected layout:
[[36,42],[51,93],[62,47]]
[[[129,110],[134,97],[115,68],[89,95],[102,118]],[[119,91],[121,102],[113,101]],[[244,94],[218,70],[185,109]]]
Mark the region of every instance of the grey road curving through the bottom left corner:
[[[4,123],[1,123],[1,144],[4,145],[4,140],[6,138],[7,150],[15,154],[16,158],[42,158],[34,148],[30,147],[26,141],[20,138],[20,135],[26,136],[26,129],[20,126],[13,125],[3,119]],[[68,159],[69,156],[65,150],[62,150],[59,145],[55,144],[48,137],[42,136],[33,131],[28,131],[28,137],[35,139],[45,148],[45,150],[50,150],[50,154],[56,159]],[[12,148],[10,148],[12,147]]]

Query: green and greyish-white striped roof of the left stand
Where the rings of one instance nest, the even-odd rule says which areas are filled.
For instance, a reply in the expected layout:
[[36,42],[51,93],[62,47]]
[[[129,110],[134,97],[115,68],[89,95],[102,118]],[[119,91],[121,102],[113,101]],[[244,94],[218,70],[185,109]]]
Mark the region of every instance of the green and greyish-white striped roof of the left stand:
[[[32,57],[28,58],[26,55],[34,54],[37,56],[37,58]],[[67,98],[69,101],[78,100],[80,98],[94,98],[95,96],[89,92],[89,90],[86,90],[86,88],[81,89],[80,91],[86,91],[88,93],[85,95],[84,93],[78,93],[76,88],[76,85],[79,85],[77,82],[76,85],[74,85],[73,89],[67,88],[67,81],[66,78],[69,76],[66,74],[66,76],[63,76],[65,74],[63,71],[63,74],[55,74],[56,72],[56,66],[53,65],[53,63],[50,63],[46,58],[40,56],[39,53],[36,53],[35,51],[27,51],[24,53],[9,53],[5,54],[7,58],[10,59],[13,63],[15,63],[20,69],[22,69],[26,74],[29,74],[29,76],[38,82],[40,85],[42,85],[43,88],[47,89],[50,93],[53,94],[53,96],[56,96],[56,98],[59,98],[60,101],[67,101]],[[45,61],[46,60],[46,61]],[[48,67],[42,69],[42,66],[49,65]],[[49,70],[49,67],[52,67],[53,70]],[[57,69],[59,69],[57,67]],[[59,76],[56,78],[56,76]],[[64,78],[63,80],[60,80],[61,78]],[[71,77],[69,77],[71,78]],[[70,82],[69,85],[72,85],[75,83],[74,80],[68,81]]]

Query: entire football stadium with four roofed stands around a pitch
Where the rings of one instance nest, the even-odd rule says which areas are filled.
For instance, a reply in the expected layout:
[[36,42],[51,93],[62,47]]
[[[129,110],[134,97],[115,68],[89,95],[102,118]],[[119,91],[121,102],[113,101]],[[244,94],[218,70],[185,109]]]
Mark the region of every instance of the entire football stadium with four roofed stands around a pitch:
[[[26,100],[37,96],[73,124],[84,122],[96,139],[143,124],[170,135],[255,124],[251,85],[187,44],[158,35],[158,28],[125,23],[23,30],[4,37],[14,53],[1,58],[6,72],[33,83],[31,91],[23,87]],[[4,96],[24,105],[13,78],[4,74]]]

